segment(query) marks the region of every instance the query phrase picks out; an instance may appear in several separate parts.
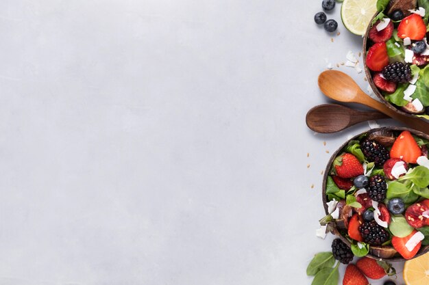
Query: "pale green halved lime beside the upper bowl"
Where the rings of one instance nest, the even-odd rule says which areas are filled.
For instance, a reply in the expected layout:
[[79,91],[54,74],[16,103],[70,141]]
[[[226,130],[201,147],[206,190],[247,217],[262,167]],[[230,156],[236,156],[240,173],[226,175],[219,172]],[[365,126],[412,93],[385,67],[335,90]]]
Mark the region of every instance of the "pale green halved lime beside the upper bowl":
[[341,20],[352,33],[363,36],[377,12],[377,0],[344,0]]

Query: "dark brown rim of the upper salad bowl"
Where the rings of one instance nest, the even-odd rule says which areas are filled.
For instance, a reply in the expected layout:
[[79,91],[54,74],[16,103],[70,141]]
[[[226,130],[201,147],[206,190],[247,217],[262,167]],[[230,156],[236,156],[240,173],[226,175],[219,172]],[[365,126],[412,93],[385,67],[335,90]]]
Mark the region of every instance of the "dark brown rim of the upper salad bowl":
[[374,81],[372,79],[371,76],[371,70],[369,70],[368,66],[367,66],[367,44],[369,43],[368,40],[368,36],[369,36],[369,31],[371,30],[372,27],[372,22],[374,20],[374,18],[376,18],[376,16],[379,14],[380,12],[376,12],[376,14],[374,14],[374,16],[371,18],[371,22],[369,23],[368,27],[367,27],[367,31],[365,32],[365,36],[363,37],[363,45],[362,45],[362,59],[363,59],[363,68],[365,70],[365,77],[367,78],[367,81],[369,83],[369,86],[371,86],[372,91],[374,92],[374,94],[376,94],[376,96],[378,98],[380,98],[380,100],[382,101],[382,103],[384,105],[387,105],[387,107],[397,113],[400,113],[401,115],[410,117],[410,118],[418,118],[419,120],[424,120],[424,121],[428,121],[425,118],[420,118],[416,115],[410,114],[410,113],[406,113],[405,111],[402,111],[401,109],[395,107],[392,103],[390,103],[388,100],[386,100],[386,98],[384,98],[383,94],[381,94],[381,92],[378,90],[378,87],[376,86],[376,84],[374,84]]

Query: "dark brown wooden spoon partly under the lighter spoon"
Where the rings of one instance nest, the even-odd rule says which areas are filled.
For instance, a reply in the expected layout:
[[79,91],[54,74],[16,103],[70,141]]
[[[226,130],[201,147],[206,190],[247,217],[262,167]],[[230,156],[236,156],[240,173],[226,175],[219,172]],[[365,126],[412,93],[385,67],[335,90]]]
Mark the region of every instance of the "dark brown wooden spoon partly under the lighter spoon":
[[306,123],[317,133],[336,133],[360,122],[386,118],[389,116],[378,111],[357,111],[341,105],[323,104],[307,112]]

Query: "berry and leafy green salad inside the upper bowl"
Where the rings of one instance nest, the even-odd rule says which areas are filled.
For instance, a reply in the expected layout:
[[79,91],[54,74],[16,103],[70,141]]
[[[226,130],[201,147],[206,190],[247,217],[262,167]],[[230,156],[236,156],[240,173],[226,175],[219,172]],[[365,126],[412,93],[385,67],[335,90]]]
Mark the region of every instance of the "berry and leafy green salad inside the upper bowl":
[[368,33],[366,66],[384,98],[429,119],[429,1],[378,1]]

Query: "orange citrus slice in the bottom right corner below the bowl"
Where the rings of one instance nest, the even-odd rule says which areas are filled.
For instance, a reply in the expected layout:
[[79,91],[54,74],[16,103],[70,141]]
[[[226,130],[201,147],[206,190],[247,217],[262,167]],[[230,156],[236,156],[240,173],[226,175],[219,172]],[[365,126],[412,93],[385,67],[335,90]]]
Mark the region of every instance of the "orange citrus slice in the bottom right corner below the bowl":
[[429,284],[429,253],[405,262],[404,281],[406,285]]

